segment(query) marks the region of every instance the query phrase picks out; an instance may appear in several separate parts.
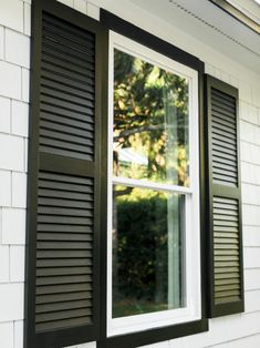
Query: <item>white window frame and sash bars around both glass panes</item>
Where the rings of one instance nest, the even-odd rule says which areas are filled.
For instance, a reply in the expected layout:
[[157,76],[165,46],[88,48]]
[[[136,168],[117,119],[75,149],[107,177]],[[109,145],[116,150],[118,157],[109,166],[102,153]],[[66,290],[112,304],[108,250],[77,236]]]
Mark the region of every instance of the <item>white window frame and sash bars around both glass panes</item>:
[[[114,116],[114,49],[141,58],[164,70],[181,75],[189,81],[189,187],[150,183],[141,180],[113,176],[113,116]],[[108,57],[108,173],[107,173],[107,336],[124,335],[175,324],[201,319],[200,275],[200,209],[199,209],[199,120],[198,120],[198,72],[183,65],[131,39],[110,32]],[[185,194],[185,286],[186,307],[150,314],[112,318],[112,187],[113,184],[138,186]]]

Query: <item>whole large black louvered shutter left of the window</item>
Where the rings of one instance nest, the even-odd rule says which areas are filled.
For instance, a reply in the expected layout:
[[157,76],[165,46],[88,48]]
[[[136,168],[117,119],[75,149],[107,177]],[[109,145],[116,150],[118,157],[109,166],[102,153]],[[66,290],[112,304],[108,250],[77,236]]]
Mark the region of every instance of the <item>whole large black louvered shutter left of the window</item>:
[[33,1],[25,347],[98,338],[102,61],[106,32]]

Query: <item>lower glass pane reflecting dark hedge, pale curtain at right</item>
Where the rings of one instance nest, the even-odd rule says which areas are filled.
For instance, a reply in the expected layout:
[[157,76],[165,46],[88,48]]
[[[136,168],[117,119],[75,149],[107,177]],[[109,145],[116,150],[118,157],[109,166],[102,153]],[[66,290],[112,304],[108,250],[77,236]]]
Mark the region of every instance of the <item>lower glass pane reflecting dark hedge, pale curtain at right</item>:
[[114,185],[113,318],[185,307],[185,196]]

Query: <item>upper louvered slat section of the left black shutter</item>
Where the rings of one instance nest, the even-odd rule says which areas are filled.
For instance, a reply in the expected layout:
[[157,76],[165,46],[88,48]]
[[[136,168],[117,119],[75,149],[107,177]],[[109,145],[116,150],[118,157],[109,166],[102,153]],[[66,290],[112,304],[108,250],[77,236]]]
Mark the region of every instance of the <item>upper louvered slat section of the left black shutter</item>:
[[[89,71],[87,68],[82,68],[85,71],[77,71],[76,64],[70,62],[71,70],[63,69],[58,63],[62,61],[62,54],[70,58],[74,57],[82,60],[82,65],[87,61],[95,66],[94,55],[94,34],[86,35],[84,39],[79,39],[76,30],[72,31],[66,23],[60,24],[61,21],[43,16],[43,44],[52,48],[52,53],[55,54],[55,63],[52,63],[50,57],[42,51],[42,74],[41,74],[41,110],[44,114],[40,114],[40,151],[58,154],[62,156],[70,156],[93,161],[94,158],[94,127],[80,127],[79,134],[73,134],[70,131],[71,126],[77,125],[75,116],[71,117],[71,111],[83,114],[83,122],[85,116],[94,119],[95,95],[94,90],[89,86],[95,85],[95,74]],[[80,30],[79,30],[80,31]],[[80,40],[80,41],[79,41]],[[87,57],[87,59],[86,59]],[[86,76],[87,75],[87,76]],[[53,121],[51,114],[48,112],[50,105],[55,108],[55,113],[59,114],[60,124]],[[67,114],[63,117],[63,110],[67,110]],[[48,122],[45,121],[45,117]],[[65,119],[65,121],[64,121]],[[66,127],[62,124],[66,123]]]

